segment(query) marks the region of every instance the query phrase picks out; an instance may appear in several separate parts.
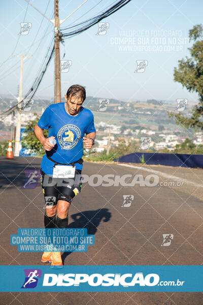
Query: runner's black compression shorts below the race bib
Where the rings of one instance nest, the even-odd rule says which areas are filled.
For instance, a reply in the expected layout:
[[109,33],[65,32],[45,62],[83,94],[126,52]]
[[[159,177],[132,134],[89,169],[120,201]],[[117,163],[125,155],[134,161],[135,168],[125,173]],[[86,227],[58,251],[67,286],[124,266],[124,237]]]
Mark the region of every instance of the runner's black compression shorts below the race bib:
[[45,174],[42,169],[41,183],[45,197],[45,206],[53,206],[58,200],[72,202],[73,198],[80,193],[82,187],[81,170],[76,169],[74,178],[53,178]]

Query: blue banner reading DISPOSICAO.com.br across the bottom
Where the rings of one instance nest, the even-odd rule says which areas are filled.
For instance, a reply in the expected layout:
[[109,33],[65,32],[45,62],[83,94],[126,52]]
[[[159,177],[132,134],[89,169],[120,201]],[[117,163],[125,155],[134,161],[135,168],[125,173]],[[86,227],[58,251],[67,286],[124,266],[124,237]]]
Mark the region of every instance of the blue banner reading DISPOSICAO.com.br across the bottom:
[[203,291],[203,266],[10,265],[0,272],[1,292]]

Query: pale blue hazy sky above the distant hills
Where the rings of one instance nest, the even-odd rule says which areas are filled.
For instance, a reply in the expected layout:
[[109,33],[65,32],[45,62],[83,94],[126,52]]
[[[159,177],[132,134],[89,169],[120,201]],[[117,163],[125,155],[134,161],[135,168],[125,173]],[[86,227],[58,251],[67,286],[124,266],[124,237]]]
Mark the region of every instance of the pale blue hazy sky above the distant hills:
[[[59,17],[64,19],[83,0],[60,0]],[[49,19],[54,0],[30,0]],[[65,27],[87,20],[115,3],[114,0],[88,0],[61,24]],[[61,94],[73,84],[86,87],[86,95],[124,101],[188,99],[198,96],[174,82],[178,60],[189,56],[188,31],[202,21],[200,0],[132,0],[107,22],[105,35],[96,35],[98,24],[60,44],[61,60],[71,60],[68,72],[61,73]],[[1,2],[0,10],[0,97],[18,95],[20,57],[23,62],[23,95],[32,86],[53,40],[54,26],[25,0]],[[20,22],[29,22],[27,35],[20,33]],[[64,55],[64,57],[63,57]],[[137,63],[138,61],[138,63]],[[137,70],[140,62],[144,69]],[[138,66],[137,66],[138,65]],[[139,66],[140,67],[140,66]],[[144,71],[143,71],[144,70]],[[35,98],[54,98],[54,58],[46,71]]]

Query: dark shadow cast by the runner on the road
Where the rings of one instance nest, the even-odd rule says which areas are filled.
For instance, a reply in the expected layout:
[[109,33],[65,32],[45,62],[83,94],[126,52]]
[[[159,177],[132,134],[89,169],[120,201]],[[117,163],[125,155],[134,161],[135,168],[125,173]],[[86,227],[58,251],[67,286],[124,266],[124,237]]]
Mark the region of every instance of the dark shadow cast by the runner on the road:
[[[88,234],[95,234],[97,227],[102,220],[104,222],[108,222],[110,220],[111,212],[109,212],[108,208],[101,208],[97,210],[79,212],[77,214],[73,214],[71,217],[73,222],[68,226],[69,229],[86,228]],[[66,256],[70,255],[71,253],[72,252],[64,252],[61,255],[63,264]]]

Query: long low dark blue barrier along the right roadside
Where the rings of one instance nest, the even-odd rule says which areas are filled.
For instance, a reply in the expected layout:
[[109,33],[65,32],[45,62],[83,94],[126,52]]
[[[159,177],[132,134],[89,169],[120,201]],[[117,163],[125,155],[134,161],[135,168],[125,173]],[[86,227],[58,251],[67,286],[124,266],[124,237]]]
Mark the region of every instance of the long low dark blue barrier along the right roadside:
[[140,159],[142,158],[142,155],[144,155],[145,164],[203,168],[203,155],[132,153],[114,159],[113,161],[124,163],[141,163]]

